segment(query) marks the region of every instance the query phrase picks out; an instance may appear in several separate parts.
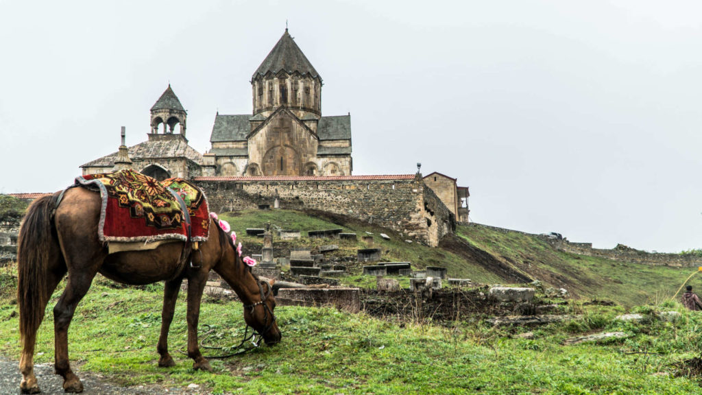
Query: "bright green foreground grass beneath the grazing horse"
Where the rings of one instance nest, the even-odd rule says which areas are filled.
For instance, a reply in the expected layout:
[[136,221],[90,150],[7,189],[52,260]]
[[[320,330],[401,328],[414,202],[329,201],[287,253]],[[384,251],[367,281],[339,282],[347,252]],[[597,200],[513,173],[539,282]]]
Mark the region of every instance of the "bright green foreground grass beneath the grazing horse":
[[[2,268],[0,354],[18,358],[18,320],[11,317],[13,268]],[[694,394],[699,383],[674,377],[674,364],[700,355],[699,313],[683,311],[675,323],[614,323],[621,308],[571,304],[581,320],[534,330],[496,329],[482,322],[450,328],[431,323],[378,320],[329,308],[279,307],[284,337],[276,347],[213,360],[213,372],[194,372],[185,349],[185,299],[179,297],[169,337],[178,365],[158,368],[161,287],[114,288],[93,283],[69,330],[69,355],[81,370],[123,385],[196,383],[215,394]],[[59,290],[60,292],[60,290]],[[53,362],[51,308],[39,330],[37,363]],[[668,304],[680,310],[678,304]],[[642,311],[654,310],[651,307]],[[682,310],[680,310],[682,311]],[[204,298],[200,319],[214,328],[216,344],[243,334],[241,305]],[[593,330],[623,330],[626,339],[562,345]],[[626,354],[633,351],[656,353]],[[211,353],[212,351],[205,351]],[[39,384],[41,385],[41,378]]]

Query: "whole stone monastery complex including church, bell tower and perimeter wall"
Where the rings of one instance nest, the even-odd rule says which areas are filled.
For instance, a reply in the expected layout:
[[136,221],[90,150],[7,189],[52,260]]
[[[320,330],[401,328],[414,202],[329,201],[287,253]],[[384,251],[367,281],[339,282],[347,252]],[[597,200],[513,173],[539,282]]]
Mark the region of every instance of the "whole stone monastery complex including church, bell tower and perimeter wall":
[[[217,113],[211,150],[185,137],[187,112],[171,85],[150,111],[147,141],[81,165],[83,174],[132,168],[202,186],[213,208],[273,205],[355,216],[436,246],[468,222],[468,188],[440,173],[352,175],[350,115],[322,116],[322,77],[286,29],[251,77],[253,112]],[[192,132],[192,131],[191,131]]]

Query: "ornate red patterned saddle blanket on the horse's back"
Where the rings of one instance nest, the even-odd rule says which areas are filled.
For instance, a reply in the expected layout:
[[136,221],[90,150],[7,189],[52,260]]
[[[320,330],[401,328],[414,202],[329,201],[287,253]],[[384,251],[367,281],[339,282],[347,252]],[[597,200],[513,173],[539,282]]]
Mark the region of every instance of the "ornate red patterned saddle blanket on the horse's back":
[[207,240],[209,212],[202,190],[184,179],[156,179],[131,169],[76,178],[75,185],[97,188],[102,197],[98,236],[102,242],[187,240],[186,217],[176,193],[190,214],[191,240]]

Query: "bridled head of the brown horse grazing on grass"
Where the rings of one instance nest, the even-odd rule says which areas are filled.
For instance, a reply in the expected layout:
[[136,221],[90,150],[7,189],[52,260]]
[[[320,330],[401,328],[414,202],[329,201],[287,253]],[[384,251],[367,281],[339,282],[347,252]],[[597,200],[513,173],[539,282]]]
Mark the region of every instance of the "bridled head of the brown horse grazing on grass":
[[265,280],[258,280],[258,301],[252,304],[244,304],[244,320],[258,335],[263,337],[266,344],[272,345],[280,342],[282,337],[278,325],[275,322],[275,297],[273,296],[273,283]]

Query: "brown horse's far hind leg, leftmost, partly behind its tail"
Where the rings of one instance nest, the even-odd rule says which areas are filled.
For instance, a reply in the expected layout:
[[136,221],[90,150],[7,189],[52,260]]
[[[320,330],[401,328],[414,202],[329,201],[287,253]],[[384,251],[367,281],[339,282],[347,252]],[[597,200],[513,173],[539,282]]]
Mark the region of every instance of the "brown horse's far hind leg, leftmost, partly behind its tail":
[[[56,245],[55,248],[52,248],[49,254],[48,269],[49,271],[46,273],[47,300],[42,301],[41,311],[46,309],[48,298],[51,297],[51,294],[53,294],[56,286],[58,283],[60,283],[63,275],[66,273],[66,264],[60,254],[58,245]],[[25,334],[24,346],[22,347],[22,356],[20,356],[20,372],[22,373],[20,390],[24,394],[37,394],[41,392],[39,389],[39,384],[37,383],[37,377],[34,376],[34,344],[37,340],[38,329],[39,324],[37,324],[37,328],[32,328],[29,333]]]

